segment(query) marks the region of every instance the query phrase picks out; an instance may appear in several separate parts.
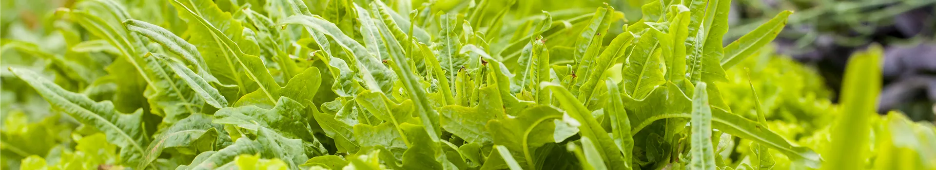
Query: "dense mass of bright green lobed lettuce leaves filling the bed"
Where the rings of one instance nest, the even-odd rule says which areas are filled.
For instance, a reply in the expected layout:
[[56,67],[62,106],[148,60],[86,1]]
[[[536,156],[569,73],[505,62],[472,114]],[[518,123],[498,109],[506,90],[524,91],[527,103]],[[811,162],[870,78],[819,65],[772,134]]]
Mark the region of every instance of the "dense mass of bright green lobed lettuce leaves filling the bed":
[[[10,67],[9,84],[67,116],[7,116],[0,147],[23,169],[760,169],[817,168],[813,149],[834,146],[820,153],[837,168],[865,162],[845,150],[865,151],[855,141],[873,132],[894,136],[875,135],[873,151],[893,157],[874,165],[936,167],[936,139],[917,137],[931,125],[870,114],[879,78],[846,87],[842,113],[867,115],[795,106],[827,94],[757,52],[790,11],[723,47],[729,0],[652,2],[623,25],[607,6],[516,20],[488,0],[408,15],[408,1],[327,2],[143,1],[168,13],[154,19],[111,0],[60,8],[64,54],[13,40],[0,51],[44,61]],[[877,53],[855,65],[879,68]],[[754,67],[764,58],[770,69]],[[762,89],[739,64],[766,75]],[[802,80],[770,84],[790,77]],[[834,133],[797,130],[831,120]],[[57,121],[81,126],[62,136]]]

